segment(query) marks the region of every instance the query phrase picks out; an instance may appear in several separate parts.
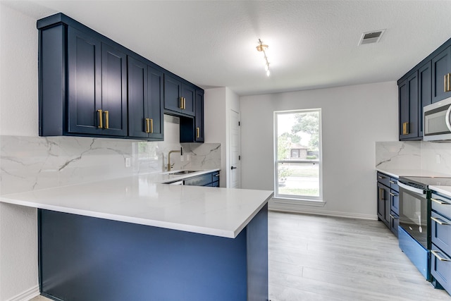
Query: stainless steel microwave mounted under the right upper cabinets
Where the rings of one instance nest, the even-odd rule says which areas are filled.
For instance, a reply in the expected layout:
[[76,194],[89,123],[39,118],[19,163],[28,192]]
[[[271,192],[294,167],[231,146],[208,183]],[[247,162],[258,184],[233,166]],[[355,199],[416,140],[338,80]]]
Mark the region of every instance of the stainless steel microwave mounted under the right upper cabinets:
[[423,112],[423,140],[451,142],[451,97],[425,106]]

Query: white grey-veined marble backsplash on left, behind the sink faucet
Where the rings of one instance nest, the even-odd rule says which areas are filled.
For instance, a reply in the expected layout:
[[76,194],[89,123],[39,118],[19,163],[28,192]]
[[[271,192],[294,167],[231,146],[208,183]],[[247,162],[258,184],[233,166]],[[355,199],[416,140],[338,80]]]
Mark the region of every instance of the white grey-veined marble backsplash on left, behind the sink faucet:
[[[165,118],[165,141],[89,137],[0,136],[0,194],[173,170],[221,168],[219,143],[178,142],[178,123]],[[125,159],[130,166],[125,166]]]

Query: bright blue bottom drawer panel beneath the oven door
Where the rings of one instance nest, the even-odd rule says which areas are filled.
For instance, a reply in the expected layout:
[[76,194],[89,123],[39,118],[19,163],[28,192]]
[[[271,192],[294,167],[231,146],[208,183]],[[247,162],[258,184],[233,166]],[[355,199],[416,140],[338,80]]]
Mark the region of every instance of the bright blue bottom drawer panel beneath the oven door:
[[429,264],[431,254],[429,250],[426,250],[422,245],[419,244],[412,236],[409,235],[401,226],[398,226],[398,240],[400,244],[400,249],[407,257],[416,269],[426,278],[426,280],[431,280],[431,273],[429,271]]

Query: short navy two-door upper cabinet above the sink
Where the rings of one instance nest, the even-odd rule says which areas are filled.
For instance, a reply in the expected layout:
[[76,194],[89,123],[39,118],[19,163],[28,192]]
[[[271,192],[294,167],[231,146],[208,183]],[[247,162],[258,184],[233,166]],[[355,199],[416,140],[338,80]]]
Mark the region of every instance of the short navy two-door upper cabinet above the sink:
[[178,76],[165,74],[164,109],[175,116],[195,115],[196,87]]

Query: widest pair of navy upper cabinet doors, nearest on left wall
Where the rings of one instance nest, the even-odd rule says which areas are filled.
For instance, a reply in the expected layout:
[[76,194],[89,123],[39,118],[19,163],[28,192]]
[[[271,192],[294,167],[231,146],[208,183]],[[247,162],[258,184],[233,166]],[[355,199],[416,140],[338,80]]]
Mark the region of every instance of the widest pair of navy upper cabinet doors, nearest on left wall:
[[68,133],[127,135],[123,52],[68,27]]

